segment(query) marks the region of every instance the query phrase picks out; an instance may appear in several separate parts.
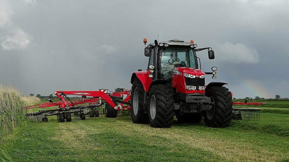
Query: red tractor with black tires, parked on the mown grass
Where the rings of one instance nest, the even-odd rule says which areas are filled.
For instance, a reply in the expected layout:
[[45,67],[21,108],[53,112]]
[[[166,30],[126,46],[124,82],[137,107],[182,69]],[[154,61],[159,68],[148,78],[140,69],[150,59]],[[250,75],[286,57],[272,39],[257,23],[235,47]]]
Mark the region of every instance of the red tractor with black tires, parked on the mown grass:
[[215,54],[211,47],[197,48],[194,41],[178,39],[146,46],[149,57],[146,71],[131,76],[131,116],[134,123],[147,123],[155,128],[170,128],[176,115],[180,123],[198,123],[204,117],[208,127],[227,127],[232,118],[232,96],[227,83],[205,85],[205,75],[216,79],[217,67],[203,72],[196,52],[207,49],[209,59]]

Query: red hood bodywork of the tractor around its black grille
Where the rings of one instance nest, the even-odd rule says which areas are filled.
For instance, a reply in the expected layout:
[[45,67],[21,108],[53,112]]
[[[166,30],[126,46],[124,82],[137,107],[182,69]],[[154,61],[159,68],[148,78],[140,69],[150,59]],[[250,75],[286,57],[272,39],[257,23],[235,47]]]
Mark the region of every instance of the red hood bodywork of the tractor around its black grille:
[[189,67],[176,67],[174,70],[177,70],[180,72],[181,75],[173,74],[172,75],[172,87],[176,88],[177,93],[202,93],[204,94],[204,90],[186,90],[186,84],[185,84],[185,78],[184,73],[192,74],[192,75],[205,75],[204,72],[202,72],[199,69],[189,68]]

